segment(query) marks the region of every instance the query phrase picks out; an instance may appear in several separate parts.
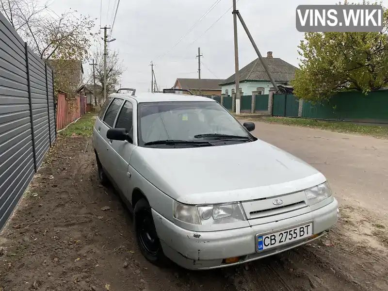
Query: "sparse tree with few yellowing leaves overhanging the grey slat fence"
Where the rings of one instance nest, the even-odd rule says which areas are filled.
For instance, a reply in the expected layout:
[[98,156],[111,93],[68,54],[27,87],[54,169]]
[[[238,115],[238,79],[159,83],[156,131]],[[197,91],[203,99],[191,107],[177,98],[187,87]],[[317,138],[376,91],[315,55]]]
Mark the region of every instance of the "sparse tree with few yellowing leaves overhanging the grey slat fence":
[[0,0],[2,12],[18,34],[41,59],[55,71],[55,91],[72,96],[81,75],[81,63],[88,59],[94,20],[67,10],[58,15],[49,3],[35,0]]

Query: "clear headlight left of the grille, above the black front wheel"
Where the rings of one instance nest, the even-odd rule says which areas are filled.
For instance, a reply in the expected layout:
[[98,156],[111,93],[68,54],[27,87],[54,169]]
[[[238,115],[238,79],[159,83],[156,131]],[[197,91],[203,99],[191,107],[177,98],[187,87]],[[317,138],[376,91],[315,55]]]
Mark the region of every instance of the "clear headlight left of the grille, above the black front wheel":
[[224,224],[246,220],[240,203],[192,206],[174,201],[174,217],[195,225]]

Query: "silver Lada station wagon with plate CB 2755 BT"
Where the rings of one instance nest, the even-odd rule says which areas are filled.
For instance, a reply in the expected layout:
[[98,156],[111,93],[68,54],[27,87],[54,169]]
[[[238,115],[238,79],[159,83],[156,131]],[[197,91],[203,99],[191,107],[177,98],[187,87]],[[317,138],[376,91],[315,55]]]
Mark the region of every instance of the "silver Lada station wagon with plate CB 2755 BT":
[[187,269],[264,258],[325,234],[338,219],[326,178],[254,137],[216,101],[110,95],[93,129],[98,176],[133,212],[142,254]]

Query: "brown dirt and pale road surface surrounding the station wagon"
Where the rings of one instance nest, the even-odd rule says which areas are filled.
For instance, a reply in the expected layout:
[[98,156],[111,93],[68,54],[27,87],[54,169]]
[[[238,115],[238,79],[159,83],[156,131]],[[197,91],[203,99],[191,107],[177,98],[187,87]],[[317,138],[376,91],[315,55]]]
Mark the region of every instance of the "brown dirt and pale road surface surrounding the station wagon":
[[[382,214],[387,210],[383,189],[388,141],[262,123],[257,127],[258,137],[312,162],[331,181],[342,215],[322,241],[220,270],[155,267],[137,249],[131,217],[121,200],[98,183],[90,139],[58,138],[0,237],[0,287],[3,291],[388,290],[388,224]],[[379,211],[372,211],[374,205]],[[358,236],[365,239],[356,240]]]

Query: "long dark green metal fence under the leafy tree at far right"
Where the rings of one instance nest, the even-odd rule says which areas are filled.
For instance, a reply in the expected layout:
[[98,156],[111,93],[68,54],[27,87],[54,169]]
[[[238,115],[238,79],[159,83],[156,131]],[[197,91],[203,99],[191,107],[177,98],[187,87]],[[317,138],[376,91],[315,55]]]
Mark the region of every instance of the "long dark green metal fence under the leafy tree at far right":
[[340,92],[329,100],[303,102],[302,117],[387,122],[388,90],[362,92]]

